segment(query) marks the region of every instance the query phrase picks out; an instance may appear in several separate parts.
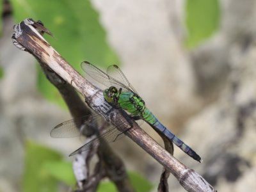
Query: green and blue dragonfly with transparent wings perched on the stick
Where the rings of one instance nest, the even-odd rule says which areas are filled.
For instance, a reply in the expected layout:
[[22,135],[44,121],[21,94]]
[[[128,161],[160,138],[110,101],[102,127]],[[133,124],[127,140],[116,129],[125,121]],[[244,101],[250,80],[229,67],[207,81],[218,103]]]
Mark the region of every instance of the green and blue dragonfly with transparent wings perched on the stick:
[[[198,154],[196,154],[196,152],[192,148],[190,148],[182,140],[177,138],[171,131],[169,131],[163,124],[161,124],[159,120],[157,120],[156,116],[154,116],[148,108],[146,108],[144,100],[141,99],[141,97],[132,87],[131,83],[129,83],[128,79],[125,77],[124,73],[122,72],[122,70],[120,70],[118,66],[109,66],[107,69],[107,73],[95,67],[88,61],[84,61],[83,63],[81,63],[81,67],[83,68],[84,72],[86,72],[86,74],[92,77],[95,81],[98,81],[99,83],[104,84],[107,87],[107,89],[103,92],[104,99],[111,106],[113,106],[113,108],[123,109],[134,120],[144,120],[148,124],[158,129],[160,132],[162,132],[164,136],[166,136],[169,140],[175,143],[177,147],[183,150],[190,157],[192,157],[196,161],[202,162],[201,157],[198,156]],[[94,119],[95,116],[97,115],[93,115],[92,117],[90,117],[90,119]],[[72,124],[74,124],[74,120],[57,125],[56,127],[54,127],[54,129],[52,129],[51,136],[54,137],[58,135],[61,132],[61,129],[70,129],[71,127],[73,127]],[[106,132],[104,132],[102,136],[99,136],[99,138],[104,138],[107,141],[115,141],[120,134],[122,133],[118,132],[115,127],[110,127]],[[87,150],[92,144],[94,145],[95,143],[99,143],[99,138],[96,138],[95,140],[86,143],[85,145],[83,145],[83,147],[79,148],[71,155],[81,152],[83,150]]]

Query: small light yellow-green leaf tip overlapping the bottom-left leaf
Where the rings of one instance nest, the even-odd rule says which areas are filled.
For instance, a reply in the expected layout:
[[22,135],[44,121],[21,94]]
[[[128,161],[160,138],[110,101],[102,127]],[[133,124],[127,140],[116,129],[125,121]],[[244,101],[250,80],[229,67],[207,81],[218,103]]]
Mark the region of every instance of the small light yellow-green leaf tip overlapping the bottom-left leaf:
[[68,186],[75,186],[76,178],[72,170],[72,163],[67,161],[47,161],[44,168],[49,175],[65,182]]

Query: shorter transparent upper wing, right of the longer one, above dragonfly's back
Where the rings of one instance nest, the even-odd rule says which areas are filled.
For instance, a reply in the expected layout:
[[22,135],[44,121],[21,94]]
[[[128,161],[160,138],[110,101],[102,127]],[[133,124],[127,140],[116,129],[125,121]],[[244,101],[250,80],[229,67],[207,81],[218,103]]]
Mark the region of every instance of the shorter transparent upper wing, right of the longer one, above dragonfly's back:
[[138,95],[132,84],[128,81],[127,77],[117,65],[110,65],[107,69],[107,74],[109,77],[124,85],[125,88],[129,88],[129,91],[132,91]]

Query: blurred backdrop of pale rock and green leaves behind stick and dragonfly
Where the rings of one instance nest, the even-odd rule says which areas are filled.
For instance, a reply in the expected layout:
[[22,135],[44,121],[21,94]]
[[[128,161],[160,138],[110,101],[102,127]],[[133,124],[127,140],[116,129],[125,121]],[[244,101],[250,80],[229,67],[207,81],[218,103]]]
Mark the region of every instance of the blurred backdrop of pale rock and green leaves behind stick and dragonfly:
[[[72,182],[48,160],[69,166],[84,143],[49,135],[71,116],[35,58],[12,44],[13,24],[26,18],[44,22],[54,34],[45,38],[79,72],[84,60],[119,65],[204,163],[177,147],[174,156],[215,189],[256,189],[256,1],[1,0],[0,12],[0,191],[67,191]],[[156,191],[161,165],[128,138],[113,148]],[[72,173],[68,166],[60,167]]]

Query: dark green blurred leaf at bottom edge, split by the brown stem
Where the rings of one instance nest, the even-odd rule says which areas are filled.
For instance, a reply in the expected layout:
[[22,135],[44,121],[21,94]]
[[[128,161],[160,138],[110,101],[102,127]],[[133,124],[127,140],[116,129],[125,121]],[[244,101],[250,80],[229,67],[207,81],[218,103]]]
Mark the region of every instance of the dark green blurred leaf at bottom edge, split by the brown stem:
[[[135,172],[128,173],[131,179],[131,184],[138,192],[147,192],[153,188],[153,185],[148,182],[147,179]],[[115,184],[113,182],[100,182],[97,192],[111,191],[117,192]]]

